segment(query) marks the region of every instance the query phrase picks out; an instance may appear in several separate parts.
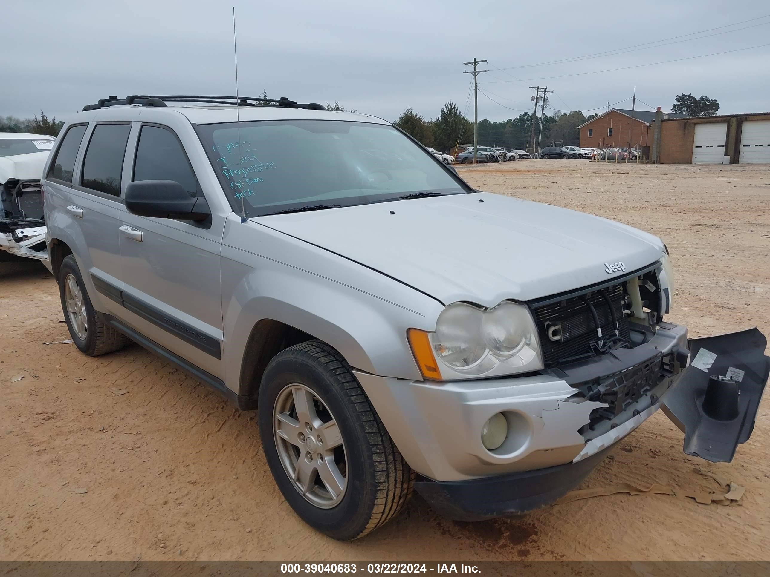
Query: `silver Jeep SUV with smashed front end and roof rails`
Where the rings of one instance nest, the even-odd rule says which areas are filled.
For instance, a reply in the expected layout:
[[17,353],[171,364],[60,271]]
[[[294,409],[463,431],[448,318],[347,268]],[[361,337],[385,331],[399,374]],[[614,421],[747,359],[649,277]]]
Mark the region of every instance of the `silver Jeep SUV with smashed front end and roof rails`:
[[86,106],[46,240],[75,346],[137,342],[258,410],[315,529],[366,535],[413,489],[454,519],[536,509],[661,405],[690,455],[748,439],[765,338],[665,321],[660,239],[474,190],[380,118],[257,101]]

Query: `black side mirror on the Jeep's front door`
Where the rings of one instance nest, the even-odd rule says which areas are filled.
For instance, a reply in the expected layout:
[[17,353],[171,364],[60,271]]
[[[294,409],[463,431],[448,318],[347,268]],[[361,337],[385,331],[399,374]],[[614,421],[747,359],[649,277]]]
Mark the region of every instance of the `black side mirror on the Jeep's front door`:
[[172,180],[140,180],[126,187],[126,210],[133,215],[203,221],[211,216],[206,198],[191,198]]

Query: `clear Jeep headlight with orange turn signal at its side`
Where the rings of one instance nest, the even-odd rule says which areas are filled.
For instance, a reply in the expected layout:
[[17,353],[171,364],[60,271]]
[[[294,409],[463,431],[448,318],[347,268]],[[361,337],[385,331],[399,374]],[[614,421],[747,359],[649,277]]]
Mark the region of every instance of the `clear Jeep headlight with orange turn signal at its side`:
[[426,379],[469,379],[543,368],[532,315],[515,302],[501,302],[492,309],[456,302],[438,316],[434,332],[410,329],[409,341]]

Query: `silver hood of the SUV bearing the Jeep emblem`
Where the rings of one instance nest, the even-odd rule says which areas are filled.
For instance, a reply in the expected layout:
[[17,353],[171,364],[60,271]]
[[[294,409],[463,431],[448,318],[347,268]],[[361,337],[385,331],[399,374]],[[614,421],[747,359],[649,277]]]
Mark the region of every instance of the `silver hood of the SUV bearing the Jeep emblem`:
[[[390,214],[393,211],[394,214]],[[494,306],[623,275],[661,258],[659,238],[606,218],[481,192],[295,212],[253,221],[433,296]]]

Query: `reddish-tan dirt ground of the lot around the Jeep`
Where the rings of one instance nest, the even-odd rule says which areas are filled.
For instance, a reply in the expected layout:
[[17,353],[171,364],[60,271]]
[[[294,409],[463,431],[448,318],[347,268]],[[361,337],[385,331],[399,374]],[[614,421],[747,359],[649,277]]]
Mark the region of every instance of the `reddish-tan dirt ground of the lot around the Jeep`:
[[[660,235],[677,272],[670,320],[691,335],[755,325],[770,335],[767,165],[535,160],[458,169],[477,188]],[[658,412],[582,485],[716,490],[703,474],[711,472],[745,487],[738,506],[611,495],[460,524],[416,495],[390,525],[340,543],[286,505],[252,412],[136,345],[96,359],[71,344],[44,345],[69,339],[62,318],[42,265],[0,264],[0,559],[770,558],[767,392],[733,462],[685,455],[681,432]]]

